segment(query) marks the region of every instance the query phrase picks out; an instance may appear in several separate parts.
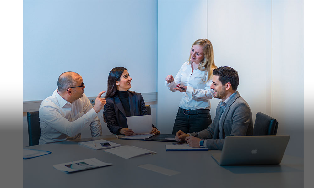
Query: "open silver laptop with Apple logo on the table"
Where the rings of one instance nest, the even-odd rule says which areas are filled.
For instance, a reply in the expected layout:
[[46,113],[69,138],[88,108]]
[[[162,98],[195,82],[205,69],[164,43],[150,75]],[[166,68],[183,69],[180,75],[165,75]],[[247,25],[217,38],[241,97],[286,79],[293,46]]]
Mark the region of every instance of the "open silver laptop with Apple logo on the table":
[[290,136],[227,136],[221,153],[212,154],[219,165],[279,164]]

